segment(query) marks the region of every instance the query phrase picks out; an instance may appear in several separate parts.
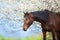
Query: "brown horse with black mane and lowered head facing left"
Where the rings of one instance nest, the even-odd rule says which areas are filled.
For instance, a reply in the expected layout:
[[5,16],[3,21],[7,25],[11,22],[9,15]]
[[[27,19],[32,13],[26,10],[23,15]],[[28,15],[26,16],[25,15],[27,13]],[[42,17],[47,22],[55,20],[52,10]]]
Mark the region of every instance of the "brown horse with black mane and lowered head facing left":
[[[46,33],[51,32],[53,40],[55,39],[55,32],[57,35],[58,40],[60,39],[59,31],[60,31],[60,14],[55,13],[49,10],[44,11],[35,11],[35,12],[26,12],[24,13],[24,24],[23,30],[27,31],[27,29],[32,25],[34,21],[40,22],[42,27],[43,33],[43,40],[46,40]],[[58,33],[57,33],[58,32]]]

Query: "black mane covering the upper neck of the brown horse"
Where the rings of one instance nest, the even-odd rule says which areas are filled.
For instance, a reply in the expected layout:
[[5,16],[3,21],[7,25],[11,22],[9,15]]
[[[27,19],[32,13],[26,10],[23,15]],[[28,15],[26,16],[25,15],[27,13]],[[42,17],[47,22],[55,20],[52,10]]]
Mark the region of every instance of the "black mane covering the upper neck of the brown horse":
[[49,10],[31,12],[37,20],[48,21]]

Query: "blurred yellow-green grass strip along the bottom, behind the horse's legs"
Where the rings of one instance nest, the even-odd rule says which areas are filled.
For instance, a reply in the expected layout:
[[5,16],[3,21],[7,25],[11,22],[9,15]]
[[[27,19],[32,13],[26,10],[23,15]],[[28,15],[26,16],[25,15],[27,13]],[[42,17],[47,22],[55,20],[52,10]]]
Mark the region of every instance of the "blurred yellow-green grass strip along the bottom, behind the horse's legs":
[[[47,35],[47,40],[51,40],[51,35]],[[0,36],[0,40],[43,40],[42,35],[37,36],[29,36],[24,38],[8,38],[4,36]]]

